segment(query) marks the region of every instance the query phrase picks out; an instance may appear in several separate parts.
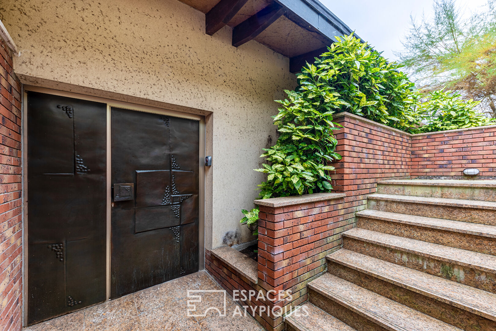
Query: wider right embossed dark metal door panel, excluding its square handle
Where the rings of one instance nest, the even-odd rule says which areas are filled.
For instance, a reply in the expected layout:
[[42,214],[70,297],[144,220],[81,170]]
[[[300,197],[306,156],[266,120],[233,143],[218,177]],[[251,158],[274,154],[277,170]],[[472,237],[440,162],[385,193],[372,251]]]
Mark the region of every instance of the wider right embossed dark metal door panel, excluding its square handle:
[[111,298],[198,271],[199,122],[111,109]]

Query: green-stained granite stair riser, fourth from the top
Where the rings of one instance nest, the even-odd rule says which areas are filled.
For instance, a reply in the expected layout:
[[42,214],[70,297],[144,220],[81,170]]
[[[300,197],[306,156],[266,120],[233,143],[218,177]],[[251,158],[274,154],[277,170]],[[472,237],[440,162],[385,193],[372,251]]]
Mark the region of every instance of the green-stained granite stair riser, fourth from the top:
[[496,293],[496,274],[477,269],[477,267],[444,262],[421,254],[392,249],[349,237],[343,237],[343,248]]

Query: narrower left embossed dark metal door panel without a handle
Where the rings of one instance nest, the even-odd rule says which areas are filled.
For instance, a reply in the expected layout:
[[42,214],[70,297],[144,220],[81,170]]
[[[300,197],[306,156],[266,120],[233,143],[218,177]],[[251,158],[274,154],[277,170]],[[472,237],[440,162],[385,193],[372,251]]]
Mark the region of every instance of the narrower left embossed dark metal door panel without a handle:
[[28,92],[28,324],[105,301],[105,104]]

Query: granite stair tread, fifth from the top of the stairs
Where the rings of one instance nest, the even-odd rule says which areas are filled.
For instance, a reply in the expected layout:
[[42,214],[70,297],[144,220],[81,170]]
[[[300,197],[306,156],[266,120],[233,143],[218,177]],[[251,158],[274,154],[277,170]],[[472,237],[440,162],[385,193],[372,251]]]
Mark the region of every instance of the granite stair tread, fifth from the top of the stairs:
[[340,249],[327,259],[496,321],[496,294]]

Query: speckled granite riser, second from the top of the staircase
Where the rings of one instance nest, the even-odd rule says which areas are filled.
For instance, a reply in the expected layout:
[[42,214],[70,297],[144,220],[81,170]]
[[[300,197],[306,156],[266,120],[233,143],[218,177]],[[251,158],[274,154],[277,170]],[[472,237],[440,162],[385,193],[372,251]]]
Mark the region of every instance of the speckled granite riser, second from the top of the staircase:
[[400,214],[436,217],[454,221],[496,225],[496,210],[455,207],[427,203],[368,199],[369,209]]

